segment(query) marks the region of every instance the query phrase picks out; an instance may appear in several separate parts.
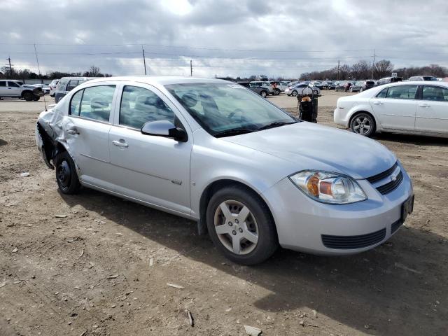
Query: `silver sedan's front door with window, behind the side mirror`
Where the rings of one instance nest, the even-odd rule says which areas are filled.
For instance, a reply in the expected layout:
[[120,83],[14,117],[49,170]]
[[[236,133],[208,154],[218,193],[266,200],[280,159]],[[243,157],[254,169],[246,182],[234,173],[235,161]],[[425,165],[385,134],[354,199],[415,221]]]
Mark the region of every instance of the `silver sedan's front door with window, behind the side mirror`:
[[169,120],[190,132],[186,120],[150,85],[125,85],[121,96],[109,133],[113,183],[118,192],[189,215],[193,137],[179,142],[140,131],[148,121]]

